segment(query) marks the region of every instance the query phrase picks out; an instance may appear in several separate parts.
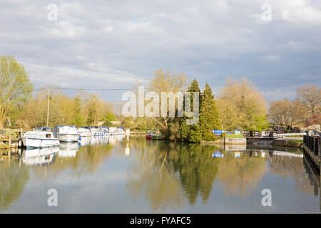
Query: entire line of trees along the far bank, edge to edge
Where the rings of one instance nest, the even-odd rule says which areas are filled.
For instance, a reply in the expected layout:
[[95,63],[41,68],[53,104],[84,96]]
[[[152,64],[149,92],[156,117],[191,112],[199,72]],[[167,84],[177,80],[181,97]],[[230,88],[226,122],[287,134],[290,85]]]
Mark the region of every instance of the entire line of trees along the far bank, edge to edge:
[[[48,93],[45,88],[33,94],[24,66],[13,56],[0,56],[0,128],[34,128],[46,125]],[[189,85],[186,88],[186,85]],[[136,87],[140,86],[140,83]],[[225,86],[213,93],[208,83],[203,90],[197,80],[190,81],[184,73],[157,70],[147,90],[161,92],[190,92],[193,112],[193,93],[199,95],[198,122],[186,124],[188,117],[126,117],[118,115],[125,128],[156,129],[170,140],[200,142],[215,140],[217,130],[266,130],[270,125],[305,126],[321,122],[321,89],[317,86],[297,88],[295,100],[276,100],[270,103],[247,78],[228,78]],[[49,125],[111,125],[116,120],[113,103],[107,103],[94,93],[76,91],[73,97],[62,90],[51,90]],[[159,104],[161,105],[161,104]],[[177,106],[175,107],[177,113]],[[161,106],[159,107],[161,110]]]

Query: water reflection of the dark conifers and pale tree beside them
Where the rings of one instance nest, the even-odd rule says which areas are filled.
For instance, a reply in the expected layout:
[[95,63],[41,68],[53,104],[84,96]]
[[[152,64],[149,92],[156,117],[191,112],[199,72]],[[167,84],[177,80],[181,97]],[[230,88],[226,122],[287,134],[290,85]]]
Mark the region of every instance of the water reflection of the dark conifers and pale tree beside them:
[[[128,188],[134,197],[144,192],[153,209],[181,207],[183,195],[189,204],[198,195],[206,202],[218,172],[213,146],[148,142],[129,170]],[[184,194],[182,194],[184,193]]]

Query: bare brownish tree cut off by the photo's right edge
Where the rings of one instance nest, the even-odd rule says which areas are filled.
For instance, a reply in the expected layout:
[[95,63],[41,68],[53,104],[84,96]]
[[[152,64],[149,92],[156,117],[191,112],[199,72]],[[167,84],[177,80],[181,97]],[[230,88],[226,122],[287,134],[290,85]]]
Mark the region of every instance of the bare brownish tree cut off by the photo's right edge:
[[300,103],[310,115],[321,112],[321,88],[317,86],[297,88],[297,99],[300,100]]

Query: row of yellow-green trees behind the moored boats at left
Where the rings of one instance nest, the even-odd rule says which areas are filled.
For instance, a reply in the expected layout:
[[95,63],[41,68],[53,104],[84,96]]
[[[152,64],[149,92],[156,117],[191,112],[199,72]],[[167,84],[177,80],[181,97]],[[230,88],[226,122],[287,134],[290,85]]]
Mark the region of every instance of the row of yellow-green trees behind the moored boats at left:
[[116,120],[113,104],[98,95],[76,91],[69,97],[62,90],[40,88],[32,95],[34,86],[29,81],[24,66],[13,56],[0,56],[0,128],[34,128],[45,126],[48,99],[50,103],[49,126],[111,125]]

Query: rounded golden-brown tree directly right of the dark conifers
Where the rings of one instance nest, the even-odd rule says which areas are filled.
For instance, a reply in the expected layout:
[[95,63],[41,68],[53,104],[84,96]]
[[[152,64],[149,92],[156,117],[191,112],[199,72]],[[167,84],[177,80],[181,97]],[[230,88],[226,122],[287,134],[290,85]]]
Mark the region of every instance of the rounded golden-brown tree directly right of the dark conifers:
[[[235,106],[237,113],[236,121],[240,123],[240,130],[264,130],[268,128],[267,103],[254,84],[243,78],[237,81],[235,78],[228,78],[226,86],[220,91],[219,100],[230,100]],[[223,115],[223,123],[228,123],[228,115]],[[232,126],[225,126],[232,128]]]

